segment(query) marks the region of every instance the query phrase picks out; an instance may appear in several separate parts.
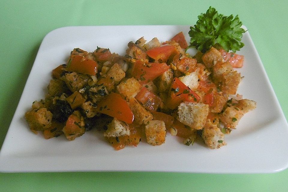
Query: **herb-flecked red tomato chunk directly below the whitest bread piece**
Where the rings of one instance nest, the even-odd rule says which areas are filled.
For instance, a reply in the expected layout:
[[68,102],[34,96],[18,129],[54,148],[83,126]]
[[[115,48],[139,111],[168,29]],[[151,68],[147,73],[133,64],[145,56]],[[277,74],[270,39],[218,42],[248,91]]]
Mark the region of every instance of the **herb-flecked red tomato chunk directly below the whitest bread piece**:
[[198,102],[200,100],[199,95],[187,87],[177,77],[173,79],[169,90],[169,96],[170,97],[167,99],[167,107],[170,109],[175,109],[184,101]]

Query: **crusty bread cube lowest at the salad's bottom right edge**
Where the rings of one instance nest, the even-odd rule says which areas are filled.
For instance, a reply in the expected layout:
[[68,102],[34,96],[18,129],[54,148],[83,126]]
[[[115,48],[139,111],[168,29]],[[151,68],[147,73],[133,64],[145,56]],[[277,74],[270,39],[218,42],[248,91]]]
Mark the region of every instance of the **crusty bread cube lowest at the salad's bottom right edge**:
[[207,120],[204,126],[202,139],[210,149],[218,149],[226,145],[224,134],[215,124],[211,123],[210,119]]

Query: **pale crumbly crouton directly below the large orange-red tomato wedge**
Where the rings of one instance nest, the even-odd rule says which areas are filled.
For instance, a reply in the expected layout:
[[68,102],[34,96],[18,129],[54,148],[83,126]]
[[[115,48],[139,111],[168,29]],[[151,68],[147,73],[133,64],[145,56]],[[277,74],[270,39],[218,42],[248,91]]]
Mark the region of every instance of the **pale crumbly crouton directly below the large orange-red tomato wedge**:
[[105,131],[105,137],[120,137],[124,135],[130,135],[129,126],[116,118],[108,124],[108,129]]

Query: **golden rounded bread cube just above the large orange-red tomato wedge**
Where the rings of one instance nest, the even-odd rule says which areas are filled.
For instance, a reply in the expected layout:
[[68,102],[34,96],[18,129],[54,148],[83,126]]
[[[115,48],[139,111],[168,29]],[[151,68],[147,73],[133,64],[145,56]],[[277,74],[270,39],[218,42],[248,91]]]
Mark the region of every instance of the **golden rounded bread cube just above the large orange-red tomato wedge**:
[[124,99],[134,98],[137,93],[139,93],[142,86],[134,78],[127,79],[126,81],[121,82],[117,86],[117,91],[121,94]]

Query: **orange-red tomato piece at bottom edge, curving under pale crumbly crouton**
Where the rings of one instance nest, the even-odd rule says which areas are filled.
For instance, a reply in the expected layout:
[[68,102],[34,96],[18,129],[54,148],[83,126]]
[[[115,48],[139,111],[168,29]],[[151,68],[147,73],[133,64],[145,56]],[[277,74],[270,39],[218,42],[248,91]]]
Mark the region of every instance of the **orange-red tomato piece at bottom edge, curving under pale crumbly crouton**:
[[109,143],[112,144],[114,149],[120,150],[125,148],[125,146],[135,146],[141,141],[141,129],[135,127],[133,124],[128,124],[130,135],[120,136],[120,137],[107,137]]

